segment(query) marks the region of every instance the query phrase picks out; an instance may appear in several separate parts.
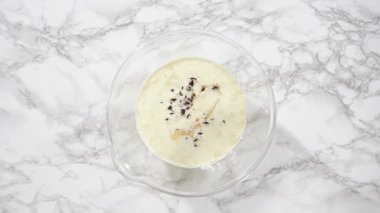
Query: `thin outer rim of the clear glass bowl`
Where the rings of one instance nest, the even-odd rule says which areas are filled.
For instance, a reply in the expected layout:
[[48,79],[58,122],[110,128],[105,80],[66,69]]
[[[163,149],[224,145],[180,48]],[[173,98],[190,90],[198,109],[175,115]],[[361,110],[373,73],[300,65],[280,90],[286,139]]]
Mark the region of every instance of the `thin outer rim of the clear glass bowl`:
[[[126,65],[128,64],[128,62],[130,61],[131,58],[134,57],[134,55],[136,55],[137,52],[139,52],[140,50],[144,49],[145,47],[149,46],[151,43],[159,40],[159,39],[163,39],[163,38],[166,38],[166,37],[170,37],[170,36],[174,36],[174,35],[179,35],[179,34],[201,34],[201,35],[205,35],[205,36],[209,36],[209,37],[216,37],[217,39],[220,39],[224,42],[227,42],[229,44],[231,44],[232,46],[234,46],[238,51],[240,51],[241,53],[243,53],[250,62],[254,62],[256,63],[264,77],[265,77],[265,86],[269,89],[269,96],[270,96],[270,103],[269,103],[269,128],[268,128],[268,134],[267,134],[267,138],[266,138],[266,141],[265,141],[265,147],[263,148],[263,152],[260,154],[260,156],[258,157],[258,159],[256,160],[256,162],[254,164],[251,165],[251,167],[249,169],[247,169],[246,171],[243,172],[242,175],[240,175],[240,177],[226,183],[226,184],[223,184],[221,186],[218,186],[218,187],[215,187],[211,190],[208,190],[208,191],[203,191],[203,192],[199,192],[199,193],[194,193],[194,192],[184,192],[184,191],[175,191],[175,190],[172,190],[172,189],[168,189],[168,188],[165,188],[165,187],[160,187],[158,185],[155,185],[155,184],[152,184],[150,183],[149,181],[144,181],[142,179],[139,179],[138,177],[134,177],[134,176],[131,176],[129,174],[127,174],[126,172],[123,171],[123,169],[118,165],[118,163],[116,162],[115,160],[115,155],[114,155],[114,140],[112,138],[112,134],[111,134],[111,128],[110,128],[110,100],[112,98],[112,94],[114,92],[114,86],[115,86],[115,82],[116,80],[120,77],[121,73],[122,73],[122,70],[124,67],[126,67]],[[244,48],[242,45],[238,44],[237,42],[235,42],[234,40],[226,37],[226,36],[223,36],[221,34],[218,34],[216,32],[213,32],[213,31],[206,31],[206,30],[199,30],[199,29],[184,29],[184,30],[173,30],[173,31],[170,31],[170,32],[166,32],[166,33],[162,33],[158,36],[155,36],[153,38],[150,38],[148,39],[147,41],[142,41],[136,48],[135,50],[133,50],[128,57],[126,57],[126,59],[124,59],[123,63],[121,64],[121,66],[119,67],[119,69],[117,70],[111,84],[110,84],[110,89],[109,89],[109,92],[108,92],[108,98],[107,98],[107,106],[106,106],[106,120],[107,120],[107,129],[108,129],[108,135],[109,135],[109,138],[110,138],[110,141],[111,141],[111,158],[112,158],[112,162],[113,162],[113,165],[114,167],[116,168],[116,170],[122,174],[124,177],[126,177],[127,179],[133,181],[133,182],[136,182],[136,183],[140,183],[140,184],[143,184],[144,186],[148,186],[150,188],[153,188],[157,191],[160,191],[160,192],[163,192],[163,193],[166,193],[166,194],[170,194],[170,195],[174,195],[174,196],[181,196],[181,197],[202,197],[202,196],[209,196],[209,195],[213,195],[213,194],[216,194],[216,193],[219,193],[219,192],[222,192],[222,191],[225,191],[235,185],[237,185],[238,183],[242,182],[243,180],[245,180],[256,168],[257,166],[262,162],[262,160],[264,159],[265,155],[267,154],[268,150],[269,150],[269,147],[270,147],[270,144],[272,143],[272,139],[273,139],[273,135],[274,135],[274,131],[275,131],[275,126],[276,126],[276,101],[275,101],[275,96],[274,96],[274,93],[273,93],[273,89],[272,89],[272,86],[271,86],[271,83],[269,81],[269,78],[268,78],[268,73],[266,73],[260,63],[252,56],[252,54],[246,49]]]

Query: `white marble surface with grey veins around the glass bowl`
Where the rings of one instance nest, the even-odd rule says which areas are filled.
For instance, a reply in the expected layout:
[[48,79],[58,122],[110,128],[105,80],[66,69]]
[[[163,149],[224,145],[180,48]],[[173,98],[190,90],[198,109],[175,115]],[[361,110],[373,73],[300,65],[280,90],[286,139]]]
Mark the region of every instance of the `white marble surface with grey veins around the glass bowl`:
[[[220,194],[179,198],[113,168],[111,80],[140,42],[219,32],[270,74],[274,141]],[[380,3],[0,0],[0,212],[380,212]]]

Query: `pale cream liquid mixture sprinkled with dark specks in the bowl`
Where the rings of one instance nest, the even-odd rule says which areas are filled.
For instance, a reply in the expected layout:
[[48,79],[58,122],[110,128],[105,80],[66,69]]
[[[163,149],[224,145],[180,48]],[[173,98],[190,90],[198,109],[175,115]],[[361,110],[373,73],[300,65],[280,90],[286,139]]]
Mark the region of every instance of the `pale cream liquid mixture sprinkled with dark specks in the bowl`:
[[223,158],[246,125],[238,82],[221,65],[182,58],[148,77],[139,94],[136,125],[156,156],[194,168]]

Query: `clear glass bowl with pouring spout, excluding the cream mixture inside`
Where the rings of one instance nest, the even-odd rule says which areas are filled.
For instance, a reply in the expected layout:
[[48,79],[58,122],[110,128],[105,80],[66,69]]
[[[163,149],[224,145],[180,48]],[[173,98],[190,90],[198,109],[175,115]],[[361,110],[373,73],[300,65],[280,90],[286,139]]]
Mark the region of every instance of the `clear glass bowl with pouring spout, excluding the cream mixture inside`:
[[[206,58],[221,64],[240,83],[247,101],[247,125],[239,143],[223,159],[201,168],[181,168],[151,153],[136,128],[135,105],[146,77],[169,61]],[[205,196],[247,177],[269,147],[275,102],[266,74],[240,45],[218,34],[171,32],[141,45],[121,66],[108,100],[108,128],[115,167],[130,180],[180,196]]]

